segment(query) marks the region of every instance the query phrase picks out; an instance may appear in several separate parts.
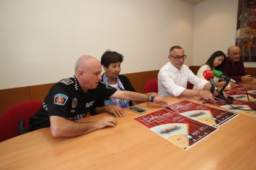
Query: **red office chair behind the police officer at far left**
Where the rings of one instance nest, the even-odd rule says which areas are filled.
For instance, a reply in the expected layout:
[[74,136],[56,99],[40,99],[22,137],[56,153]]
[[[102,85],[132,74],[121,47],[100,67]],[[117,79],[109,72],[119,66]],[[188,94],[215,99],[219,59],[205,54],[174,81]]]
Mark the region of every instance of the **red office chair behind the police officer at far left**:
[[23,119],[28,129],[29,118],[40,110],[42,102],[28,101],[18,103],[7,109],[0,116],[0,142],[15,137],[18,132],[18,122]]

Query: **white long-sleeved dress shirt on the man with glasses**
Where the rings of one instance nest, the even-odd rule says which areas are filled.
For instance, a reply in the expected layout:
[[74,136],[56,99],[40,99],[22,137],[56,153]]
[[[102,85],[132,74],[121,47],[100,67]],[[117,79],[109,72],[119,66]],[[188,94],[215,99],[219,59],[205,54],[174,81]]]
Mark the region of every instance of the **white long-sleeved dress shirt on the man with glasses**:
[[203,89],[208,83],[206,79],[198,78],[186,65],[181,69],[174,67],[171,62],[166,63],[158,73],[158,94],[163,97],[182,94],[187,88],[187,82],[194,84],[198,89]]

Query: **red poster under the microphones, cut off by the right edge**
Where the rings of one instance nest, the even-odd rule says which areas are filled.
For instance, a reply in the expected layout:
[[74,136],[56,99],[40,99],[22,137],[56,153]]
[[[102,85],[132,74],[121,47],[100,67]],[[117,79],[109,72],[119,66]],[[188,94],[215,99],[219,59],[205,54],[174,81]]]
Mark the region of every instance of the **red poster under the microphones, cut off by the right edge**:
[[[202,102],[206,102],[202,100]],[[236,111],[237,113],[241,113],[243,115],[256,117],[256,103],[252,102],[245,102],[242,100],[233,100],[233,103],[229,105],[228,103],[224,102],[223,100],[215,100],[215,101],[207,101],[208,103],[212,103],[218,107],[226,108],[230,111]]]

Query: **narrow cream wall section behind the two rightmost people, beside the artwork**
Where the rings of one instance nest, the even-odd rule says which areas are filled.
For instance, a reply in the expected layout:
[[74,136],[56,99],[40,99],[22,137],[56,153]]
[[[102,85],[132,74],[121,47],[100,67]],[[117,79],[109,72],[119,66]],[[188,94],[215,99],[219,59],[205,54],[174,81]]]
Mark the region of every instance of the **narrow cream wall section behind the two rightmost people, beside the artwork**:
[[[238,0],[208,0],[194,10],[194,65],[202,65],[215,51],[227,53],[236,45]],[[256,67],[245,62],[245,67]]]

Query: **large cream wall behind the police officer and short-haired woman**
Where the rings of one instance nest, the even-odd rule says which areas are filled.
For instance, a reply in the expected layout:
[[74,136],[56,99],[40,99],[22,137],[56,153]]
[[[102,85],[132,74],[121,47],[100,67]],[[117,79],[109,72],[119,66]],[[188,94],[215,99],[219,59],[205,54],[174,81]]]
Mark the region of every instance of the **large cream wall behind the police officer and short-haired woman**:
[[193,64],[194,6],[177,0],[0,0],[0,89],[54,83],[80,55],[124,55],[122,73],[158,70],[180,45]]

